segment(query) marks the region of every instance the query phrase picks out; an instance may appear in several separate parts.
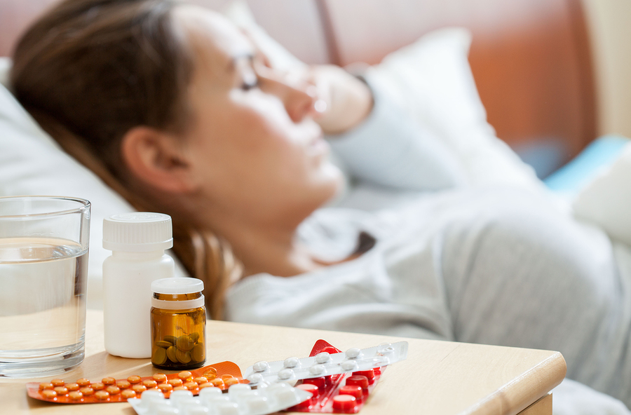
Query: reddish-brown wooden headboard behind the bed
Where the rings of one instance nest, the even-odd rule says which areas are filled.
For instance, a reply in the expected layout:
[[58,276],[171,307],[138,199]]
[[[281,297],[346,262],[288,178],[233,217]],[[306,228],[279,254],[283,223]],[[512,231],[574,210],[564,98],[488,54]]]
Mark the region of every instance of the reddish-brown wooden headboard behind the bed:
[[[0,1],[0,55],[57,0]],[[221,8],[230,0],[194,0]],[[376,63],[443,26],[473,33],[470,64],[498,137],[551,141],[565,159],[597,131],[581,0],[248,0],[271,36],[309,63]]]

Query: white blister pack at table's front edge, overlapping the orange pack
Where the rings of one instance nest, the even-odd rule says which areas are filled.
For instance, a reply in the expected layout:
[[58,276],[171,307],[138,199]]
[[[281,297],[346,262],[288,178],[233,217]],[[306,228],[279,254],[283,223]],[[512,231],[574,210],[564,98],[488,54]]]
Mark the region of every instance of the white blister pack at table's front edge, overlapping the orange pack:
[[158,390],[146,390],[140,399],[128,400],[138,415],[265,415],[304,402],[311,397],[287,383],[252,390],[239,383],[228,393],[219,388],[203,388],[194,397],[189,390],[175,390],[169,399]]

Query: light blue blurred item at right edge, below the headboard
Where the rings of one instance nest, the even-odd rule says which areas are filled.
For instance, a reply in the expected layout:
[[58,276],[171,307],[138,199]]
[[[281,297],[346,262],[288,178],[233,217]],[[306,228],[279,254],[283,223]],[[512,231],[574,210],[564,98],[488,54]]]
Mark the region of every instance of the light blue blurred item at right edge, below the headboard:
[[569,163],[546,177],[543,182],[554,191],[574,196],[599,171],[616,161],[628,142],[628,138],[617,135],[600,137]]

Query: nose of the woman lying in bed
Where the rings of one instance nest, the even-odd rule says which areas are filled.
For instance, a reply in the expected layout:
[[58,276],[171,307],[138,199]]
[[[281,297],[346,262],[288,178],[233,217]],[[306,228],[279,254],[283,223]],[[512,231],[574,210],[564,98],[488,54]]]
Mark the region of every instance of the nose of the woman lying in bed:
[[285,110],[294,123],[315,114],[317,88],[307,81],[288,76],[270,76],[265,82],[269,92],[276,95],[285,105]]

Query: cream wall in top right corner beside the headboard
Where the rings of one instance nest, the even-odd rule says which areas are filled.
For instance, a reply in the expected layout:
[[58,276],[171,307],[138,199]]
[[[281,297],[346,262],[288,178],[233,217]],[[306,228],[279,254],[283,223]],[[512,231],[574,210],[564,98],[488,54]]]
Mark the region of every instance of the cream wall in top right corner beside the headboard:
[[594,55],[599,133],[631,137],[631,1],[583,4]]

